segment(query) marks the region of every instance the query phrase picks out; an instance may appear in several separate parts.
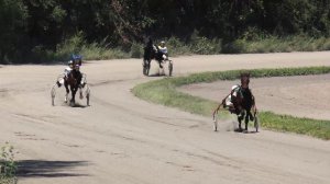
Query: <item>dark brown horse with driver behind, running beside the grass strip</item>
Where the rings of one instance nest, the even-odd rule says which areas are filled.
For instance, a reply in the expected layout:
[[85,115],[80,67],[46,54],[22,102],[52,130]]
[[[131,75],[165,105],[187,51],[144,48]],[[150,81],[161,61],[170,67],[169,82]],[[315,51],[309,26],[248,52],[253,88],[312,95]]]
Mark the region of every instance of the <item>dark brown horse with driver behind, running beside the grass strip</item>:
[[[258,125],[256,118],[256,105],[255,105],[255,97],[252,94],[249,83],[250,83],[250,73],[241,73],[241,85],[233,89],[231,93],[227,96],[231,96],[232,106],[229,107],[230,113],[237,114],[238,122],[239,122],[239,130],[242,131],[242,120],[245,122],[245,128],[244,130],[248,131],[248,124],[250,120],[255,120],[255,128],[257,131]],[[235,93],[235,95],[233,95]],[[216,113],[220,110],[221,106],[227,107],[224,97],[222,100],[222,103],[219,104],[219,106],[213,112],[213,117]],[[253,114],[251,113],[253,111]]]

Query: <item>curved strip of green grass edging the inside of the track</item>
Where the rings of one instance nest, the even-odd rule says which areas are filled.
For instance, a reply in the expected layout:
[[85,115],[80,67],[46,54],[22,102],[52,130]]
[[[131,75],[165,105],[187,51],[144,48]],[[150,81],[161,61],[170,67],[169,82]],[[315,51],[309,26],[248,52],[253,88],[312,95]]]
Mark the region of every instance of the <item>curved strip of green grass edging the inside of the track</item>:
[[[305,67],[305,68],[282,68],[282,69],[254,69],[254,70],[232,70],[195,73],[188,77],[165,78],[162,80],[142,83],[133,88],[132,92],[148,102],[178,107],[183,111],[210,116],[218,102],[205,100],[176,91],[177,87],[213,82],[217,80],[238,79],[242,71],[249,71],[252,78],[285,77],[285,76],[307,76],[330,73],[330,67]],[[292,131],[314,136],[317,138],[330,139],[330,120],[316,120],[309,118],[297,118],[293,116],[276,115],[270,112],[261,112],[262,127]]]

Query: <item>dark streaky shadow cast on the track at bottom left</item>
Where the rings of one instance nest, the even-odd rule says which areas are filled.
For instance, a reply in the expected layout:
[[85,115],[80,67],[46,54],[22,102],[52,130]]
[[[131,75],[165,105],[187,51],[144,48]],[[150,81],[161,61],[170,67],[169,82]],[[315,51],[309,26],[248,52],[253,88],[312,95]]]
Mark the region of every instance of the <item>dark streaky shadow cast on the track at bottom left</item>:
[[86,161],[45,161],[45,160],[21,160],[18,161],[18,177],[68,177],[88,176],[70,171],[76,166],[86,166]]

